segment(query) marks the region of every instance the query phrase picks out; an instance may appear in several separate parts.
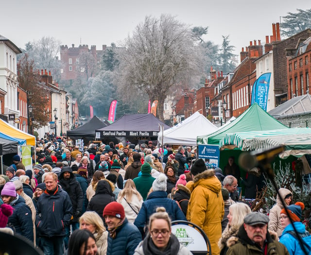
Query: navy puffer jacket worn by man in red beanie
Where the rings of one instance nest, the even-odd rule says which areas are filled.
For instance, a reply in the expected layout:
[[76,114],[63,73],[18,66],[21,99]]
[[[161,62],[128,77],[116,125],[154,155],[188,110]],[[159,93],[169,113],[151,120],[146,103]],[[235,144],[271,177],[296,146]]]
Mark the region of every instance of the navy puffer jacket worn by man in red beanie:
[[141,241],[141,235],[136,226],[129,223],[125,218],[121,227],[117,230],[114,239],[108,234],[107,255],[133,255]]

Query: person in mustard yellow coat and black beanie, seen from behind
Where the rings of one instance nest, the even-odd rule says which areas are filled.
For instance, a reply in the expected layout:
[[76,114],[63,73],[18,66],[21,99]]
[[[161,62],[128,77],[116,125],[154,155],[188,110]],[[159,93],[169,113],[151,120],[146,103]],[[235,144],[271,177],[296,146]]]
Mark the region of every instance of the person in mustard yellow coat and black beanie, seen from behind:
[[187,220],[203,229],[210,241],[212,255],[219,255],[218,241],[222,236],[224,200],[222,185],[214,170],[207,170],[203,159],[197,159],[190,170],[193,181],[187,183],[191,191]]

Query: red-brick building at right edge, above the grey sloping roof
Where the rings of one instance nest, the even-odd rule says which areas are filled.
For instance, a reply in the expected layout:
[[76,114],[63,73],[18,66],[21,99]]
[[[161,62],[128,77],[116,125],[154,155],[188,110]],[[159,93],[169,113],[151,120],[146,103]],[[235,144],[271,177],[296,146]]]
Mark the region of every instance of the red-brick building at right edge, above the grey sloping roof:
[[299,39],[295,48],[286,49],[286,56],[288,99],[310,94],[311,37]]

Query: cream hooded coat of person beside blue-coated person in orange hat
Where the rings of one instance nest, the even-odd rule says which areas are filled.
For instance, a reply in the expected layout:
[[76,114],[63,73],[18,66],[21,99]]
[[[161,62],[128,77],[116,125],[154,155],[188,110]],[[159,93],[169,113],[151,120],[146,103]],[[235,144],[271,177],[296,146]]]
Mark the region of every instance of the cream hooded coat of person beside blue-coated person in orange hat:
[[[292,197],[293,197],[293,193],[287,189],[287,188],[279,188],[279,193],[282,197],[282,199],[284,200],[285,197],[288,195],[288,194],[291,194]],[[282,232],[284,230],[284,228],[282,227],[282,224],[281,224],[281,221],[280,221],[280,213],[281,213],[281,210],[283,209],[283,204],[282,204],[282,201],[280,199],[280,197],[277,195],[276,196],[276,205],[274,205],[271,210],[270,210],[270,213],[269,213],[269,224],[268,224],[268,229],[270,231],[274,231],[276,232],[277,236],[281,236],[282,235]]]

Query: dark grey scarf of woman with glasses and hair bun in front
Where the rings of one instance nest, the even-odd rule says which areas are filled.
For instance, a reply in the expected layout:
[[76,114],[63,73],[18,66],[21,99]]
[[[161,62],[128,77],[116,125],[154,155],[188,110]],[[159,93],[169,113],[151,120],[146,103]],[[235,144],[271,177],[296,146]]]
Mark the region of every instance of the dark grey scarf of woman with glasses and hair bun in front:
[[171,234],[170,240],[163,252],[155,246],[150,234],[142,243],[144,255],[176,255],[178,254],[179,246],[179,241],[173,234]]

